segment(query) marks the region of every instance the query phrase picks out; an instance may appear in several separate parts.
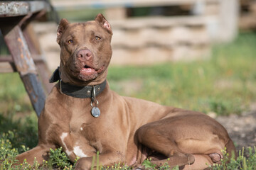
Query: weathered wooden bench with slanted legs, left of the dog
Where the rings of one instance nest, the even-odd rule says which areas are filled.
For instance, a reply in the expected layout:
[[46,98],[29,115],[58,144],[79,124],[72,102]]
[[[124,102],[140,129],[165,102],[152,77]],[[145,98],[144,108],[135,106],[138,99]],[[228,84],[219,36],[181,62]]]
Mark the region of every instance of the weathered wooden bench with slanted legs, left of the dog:
[[18,72],[38,116],[53,85],[48,83],[50,72],[31,21],[40,18],[47,8],[45,1],[0,2],[0,30],[11,54],[0,56],[0,72]]

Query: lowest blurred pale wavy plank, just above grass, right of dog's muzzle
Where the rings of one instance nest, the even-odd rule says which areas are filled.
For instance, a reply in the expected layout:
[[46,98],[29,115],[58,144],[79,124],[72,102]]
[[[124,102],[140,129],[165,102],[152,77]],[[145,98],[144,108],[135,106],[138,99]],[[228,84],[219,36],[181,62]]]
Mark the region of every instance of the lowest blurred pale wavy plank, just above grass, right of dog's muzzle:
[[156,64],[162,62],[208,60],[210,46],[176,45],[174,47],[147,46],[141,48],[115,48],[114,64]]

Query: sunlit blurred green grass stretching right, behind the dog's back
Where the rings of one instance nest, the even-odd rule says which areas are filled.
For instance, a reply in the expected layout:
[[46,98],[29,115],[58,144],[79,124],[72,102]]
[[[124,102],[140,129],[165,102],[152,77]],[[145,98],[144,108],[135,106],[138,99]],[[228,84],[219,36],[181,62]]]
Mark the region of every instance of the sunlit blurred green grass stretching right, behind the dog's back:
[[215,46],[209,61],[111,67],[108,80],[124,96],[204,113],[239,114],[256,99],[255,44],[255,34],[242,34],[232,44]]

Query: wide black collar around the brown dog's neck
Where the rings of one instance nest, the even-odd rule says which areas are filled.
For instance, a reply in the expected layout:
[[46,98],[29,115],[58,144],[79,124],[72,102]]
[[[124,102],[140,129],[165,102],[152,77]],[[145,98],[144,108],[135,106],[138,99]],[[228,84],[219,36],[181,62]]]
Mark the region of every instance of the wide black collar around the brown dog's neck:
[[[50,83],[53,83],[58,80],[60,85],[60,93],[63,93],[75,98],[92,98],[92,97],[95,98],[105,89],[107,84],[106,80],[102,84],[98,84],[95,86],[75,86],[72,84],[64,83],[60,79],[59,67],[55,69],[49,81]],[[94,94],[94,89],[95,89],[95,94]]]

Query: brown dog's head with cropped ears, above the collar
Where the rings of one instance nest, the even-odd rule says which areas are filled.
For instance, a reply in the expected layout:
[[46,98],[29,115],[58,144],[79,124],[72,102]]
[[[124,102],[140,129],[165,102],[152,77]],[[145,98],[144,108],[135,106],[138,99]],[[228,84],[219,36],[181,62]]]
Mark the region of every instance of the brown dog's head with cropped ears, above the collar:
[[111,38],[110,23],[101,13],[95,21],[85,23],[69,23],[62,19],[57,30],[60,79],[80,86],[105,81],[112,56]]

